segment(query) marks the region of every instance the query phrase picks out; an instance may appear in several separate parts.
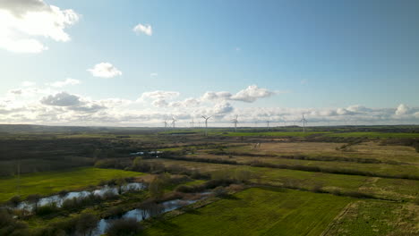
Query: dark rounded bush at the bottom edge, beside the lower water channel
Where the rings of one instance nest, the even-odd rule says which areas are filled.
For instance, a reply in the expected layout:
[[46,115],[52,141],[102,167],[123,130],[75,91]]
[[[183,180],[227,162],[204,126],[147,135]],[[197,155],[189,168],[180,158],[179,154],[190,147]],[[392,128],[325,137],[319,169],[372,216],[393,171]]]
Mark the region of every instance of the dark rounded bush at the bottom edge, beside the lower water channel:
[[106,232],[108,236],[130,236],[138,234],[141,232],[141,229],[141,224],[134,218],[127,218],[110,223]]

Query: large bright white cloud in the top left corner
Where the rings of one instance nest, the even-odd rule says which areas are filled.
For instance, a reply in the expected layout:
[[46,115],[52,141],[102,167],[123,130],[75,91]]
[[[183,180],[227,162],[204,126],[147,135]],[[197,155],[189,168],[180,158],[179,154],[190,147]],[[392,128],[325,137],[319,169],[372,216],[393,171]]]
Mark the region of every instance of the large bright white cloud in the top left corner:
[[15,53],[47,50],[39,38],[67,42],[64,31],[79,21],[72,9],[61,10],[42,0],[0,0],[0,48]]

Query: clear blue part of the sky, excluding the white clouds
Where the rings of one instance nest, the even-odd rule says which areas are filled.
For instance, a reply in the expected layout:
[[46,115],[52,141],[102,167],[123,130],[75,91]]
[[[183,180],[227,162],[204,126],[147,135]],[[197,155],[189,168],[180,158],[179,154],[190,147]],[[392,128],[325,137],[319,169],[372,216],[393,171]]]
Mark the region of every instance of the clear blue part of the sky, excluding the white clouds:
[[[2,9],[3,13],[15,13],[13,4],[2,2],[0,13]],[[72,9],[78,21],[61,29],[71,38],[68,41],[42,33],[19,35],[47,46],[47,50],[38,53],[13,52],[1,45],[0,35],[3,78],[0,95],[20,89],[24,81],[47,89],[34,99],[64,91],[81,100],[88,97],[83,100],[85,104],[87,100],[98,104],[108,98],[134,103],[143,93],[175,91],[178,95],[171,97],[172,101],[167,100],[167,105],[141,102],[127,106],[171,116],[179,111],[170,109],[170,102],[187,97],[199,99],[208,91],[235,95],[256,85],[271,93],[255,90],[262,94],[252,102],[233,98],[203,105],[200,100],[204,106],[200,109],[228,103],[231,109],[219,114],[220,120],[232,113],[245,116],[239,109],[251,107],[295,109],[289,112],[294,116],[314,109],[319,114],[312,115],[313,119],[322,120],[329,117],[328,114],[321,118],[321,111],[326,108],[359,105],[368,109],[391,108],[394,114],[399,105],[405,105],[406,122],[419,119],[415,108],[419,104],[417,1],[21,2],[24,4],[19,10],[25,13],[38,11],[30,8],[33,2],[47,7],[55,5],[60,11]],[[138,24],[150,25],[152,34],[133,32]],[[3,27],[10,29],[13,24],[6,23]],[[111,63],[122,74],[113,78],[95,77],[87,70],[98,63]],[[48,90],[47,84],[67,78],[79,83]],[[64,106],[58,107],[64,109],[61,112],[70,112]],[[4,107],[12,114],[12,108]],[[85,115],[91,118],[96,114],[81,117],[86,118]],[[278,112],[278,119],[283,115],[286,115],[283,111]],[[396,119],[390,114],[384,116],[382,122]],[[16,122],[44,123],[41,117]],[[4,117],[4,121],[11,119],[14,118]]]

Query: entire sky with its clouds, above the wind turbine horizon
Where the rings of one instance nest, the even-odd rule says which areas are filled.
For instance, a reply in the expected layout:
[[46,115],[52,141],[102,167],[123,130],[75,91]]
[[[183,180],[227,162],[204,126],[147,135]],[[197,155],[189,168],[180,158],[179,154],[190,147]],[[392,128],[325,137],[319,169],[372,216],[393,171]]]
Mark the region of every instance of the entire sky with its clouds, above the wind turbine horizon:
[[419,2],[0,0],[0,123],[419,123]]

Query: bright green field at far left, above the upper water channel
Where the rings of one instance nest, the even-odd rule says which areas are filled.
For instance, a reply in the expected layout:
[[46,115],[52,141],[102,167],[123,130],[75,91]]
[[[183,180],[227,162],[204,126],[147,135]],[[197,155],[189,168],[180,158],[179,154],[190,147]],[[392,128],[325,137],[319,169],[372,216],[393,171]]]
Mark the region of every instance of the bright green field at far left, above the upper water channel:
[[[115,178],[133,177],[143,173],[126,172],[114,169],[98,169],[93,167],[74,168],[64,171],[29,173],[21,175],[21,197],[30,194],[48,195],[60,190],[79,190],[99,181]],[[0,202],[15,195],[17,178],[0,179]]]

